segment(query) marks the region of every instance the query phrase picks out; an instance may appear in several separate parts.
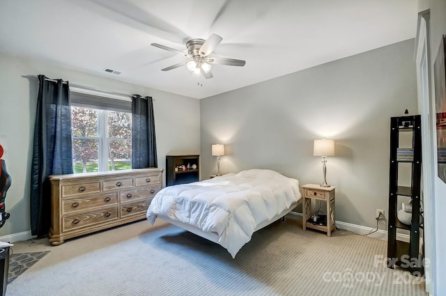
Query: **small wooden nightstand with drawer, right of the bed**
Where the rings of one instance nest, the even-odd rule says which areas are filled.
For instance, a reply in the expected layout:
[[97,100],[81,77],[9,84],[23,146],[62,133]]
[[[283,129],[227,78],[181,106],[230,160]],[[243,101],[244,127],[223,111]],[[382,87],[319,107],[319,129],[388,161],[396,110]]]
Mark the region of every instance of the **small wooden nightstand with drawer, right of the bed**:
[[[318,231],[324,231],[328,236],[332,235],[332,232],[336,230],[334,225],[334,189],[336,187],[321,187],[321,185],[307,184],[303,185],[303,202],[302,202],[302,226],[306,228],[317,229]],[[327,203],[327,225],[314,225],[308,221],[312,217],[312,199],[325,201]]]

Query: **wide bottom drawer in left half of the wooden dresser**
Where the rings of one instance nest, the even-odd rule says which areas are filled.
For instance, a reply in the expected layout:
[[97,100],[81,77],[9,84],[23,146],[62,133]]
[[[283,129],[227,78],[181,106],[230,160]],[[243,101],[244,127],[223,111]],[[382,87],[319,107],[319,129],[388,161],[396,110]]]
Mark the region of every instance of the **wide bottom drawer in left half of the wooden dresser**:
[[62,231],[104,224],[118,219],[118,207],[62,217]]

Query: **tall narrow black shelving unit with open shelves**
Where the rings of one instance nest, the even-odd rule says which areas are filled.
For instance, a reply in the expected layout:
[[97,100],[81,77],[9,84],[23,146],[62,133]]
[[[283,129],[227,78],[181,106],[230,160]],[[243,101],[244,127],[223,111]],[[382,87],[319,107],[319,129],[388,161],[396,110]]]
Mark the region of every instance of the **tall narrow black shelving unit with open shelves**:
[[[421,204],[421,116],[401,116],[390,118],[390,182],[389,182],[389,221],[387,240],[387,266],[398,265],[414,275],[424,274],[422,254],[420,254]],[[402,132],[412,133],[412,147],[400,147]],[[399,164],[409,163],[411,166],[410,187],[401,186],[398,182]],[[412,223],[403,224],[397,212],[403,196],[412,200]],[[408,199],[408,198],[406,198]],[[410,242],[397,240],[398,229],[410,232]]]

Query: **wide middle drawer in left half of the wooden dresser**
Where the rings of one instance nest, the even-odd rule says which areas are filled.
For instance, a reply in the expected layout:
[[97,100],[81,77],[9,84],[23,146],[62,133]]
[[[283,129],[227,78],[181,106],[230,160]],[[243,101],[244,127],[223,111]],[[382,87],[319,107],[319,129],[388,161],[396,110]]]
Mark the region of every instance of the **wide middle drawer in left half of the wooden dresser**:
[[72,212],[80,212],[83,210],[91,210],[94,208],[102,208],[108,205],[116,205],[118,203],[118,194],[109,193],[100,196],[85,196],[79,198],[70,198],[62,201],[62,214],[70,214]]

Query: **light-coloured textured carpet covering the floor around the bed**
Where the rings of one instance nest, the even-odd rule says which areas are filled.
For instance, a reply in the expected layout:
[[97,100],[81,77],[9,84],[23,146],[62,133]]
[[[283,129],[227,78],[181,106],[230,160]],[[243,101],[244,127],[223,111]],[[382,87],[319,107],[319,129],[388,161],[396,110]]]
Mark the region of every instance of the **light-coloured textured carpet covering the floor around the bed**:
[[385,267],[384,241],[302,231],[295,219],[257,231],[235,259],[162,221],[43,248],[6,295],[426,295],[419,278]]

